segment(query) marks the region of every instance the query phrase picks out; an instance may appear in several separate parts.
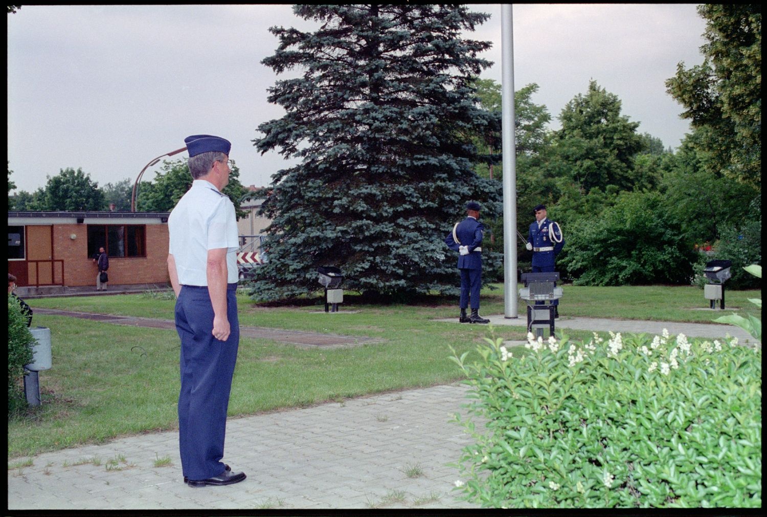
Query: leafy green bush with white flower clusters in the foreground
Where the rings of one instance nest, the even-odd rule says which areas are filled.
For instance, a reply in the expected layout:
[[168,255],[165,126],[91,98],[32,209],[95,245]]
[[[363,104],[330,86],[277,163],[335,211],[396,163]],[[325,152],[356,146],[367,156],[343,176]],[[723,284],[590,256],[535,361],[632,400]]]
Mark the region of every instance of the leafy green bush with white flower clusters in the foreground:
[[[472,387],[455,466],[492,508],[760,507],[762,351],[731,341],[528,334],[451,359]],[[476,420],[482,423],[476,423]]]

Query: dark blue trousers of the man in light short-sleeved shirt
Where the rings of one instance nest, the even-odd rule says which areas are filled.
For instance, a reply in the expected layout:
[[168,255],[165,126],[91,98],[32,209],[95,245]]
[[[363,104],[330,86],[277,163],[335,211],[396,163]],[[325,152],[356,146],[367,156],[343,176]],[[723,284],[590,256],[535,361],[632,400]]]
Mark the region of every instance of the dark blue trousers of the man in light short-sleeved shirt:
[[212,335],[213,306],[208,288],[182,285],[176,301],[176,330],[181,338],[179,449],[181,469],[189,479],[224,472],[224,436],[229,390],[239,347],[237,284],[226,291],[231,333],[226,341]]

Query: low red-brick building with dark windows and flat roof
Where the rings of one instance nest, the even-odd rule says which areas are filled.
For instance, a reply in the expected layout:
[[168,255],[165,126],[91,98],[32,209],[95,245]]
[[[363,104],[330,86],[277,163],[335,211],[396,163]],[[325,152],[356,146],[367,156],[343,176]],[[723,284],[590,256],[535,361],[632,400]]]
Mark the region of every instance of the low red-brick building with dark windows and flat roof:
[[8,212],[8,272],[27,290],[96,285],[94,254],[112,285],[166,285],[168,212]]

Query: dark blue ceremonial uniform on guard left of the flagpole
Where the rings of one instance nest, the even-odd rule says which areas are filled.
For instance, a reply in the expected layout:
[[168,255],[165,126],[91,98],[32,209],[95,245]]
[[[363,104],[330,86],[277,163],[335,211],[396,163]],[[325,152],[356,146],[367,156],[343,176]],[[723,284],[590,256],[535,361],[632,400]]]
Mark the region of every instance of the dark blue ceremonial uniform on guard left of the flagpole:
[[461,298],[459,307],[465,309],[471,302],[472,310],[479,309],[479,289],[482,286],[482,234],[485,226],[474,219],[467,217],[458,223],[454,232],[458,242],[449,232],[445,237],[445,244],[454,252],[459,251],[461,245],[469,246],[468,255],[458,255],[458,269],[461,273]]

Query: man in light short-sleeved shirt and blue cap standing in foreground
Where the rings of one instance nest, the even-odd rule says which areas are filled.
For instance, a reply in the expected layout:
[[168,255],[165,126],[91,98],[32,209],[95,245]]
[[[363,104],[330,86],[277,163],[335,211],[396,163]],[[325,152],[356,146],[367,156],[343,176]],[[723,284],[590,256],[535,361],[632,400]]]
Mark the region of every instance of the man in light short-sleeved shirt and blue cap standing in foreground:
[[239,347],[237,220],[221,193],[229,183],[232,144],[212,135],[184,142],[194,181],[168,218],[168,273],[181,338],[181,467],[189,486],[230,485],[245,479],[221,462]]

